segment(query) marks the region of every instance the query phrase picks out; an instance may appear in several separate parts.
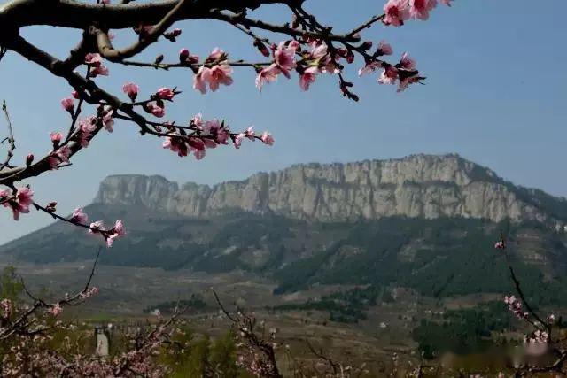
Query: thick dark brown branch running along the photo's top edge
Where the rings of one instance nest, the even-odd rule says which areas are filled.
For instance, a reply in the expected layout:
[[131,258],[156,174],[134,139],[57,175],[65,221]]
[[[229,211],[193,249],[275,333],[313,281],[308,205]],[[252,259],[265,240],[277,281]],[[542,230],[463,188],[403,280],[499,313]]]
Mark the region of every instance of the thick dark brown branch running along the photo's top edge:
[[[20,27],[47,25],[72,27],[88,30],[95,24],[104,23],[107,29],[123,29],[140,25],[155,25],[167,16],[179,3],[178,0],[136,4],[89,4],[74,0],[13,0],[0,8],[0,31],[14,34]],[[237,21],[245,27],[283,33],[287,35],[308,35],[320,38],[319,33],[295,30],[286,25],[273,25],[255,19],[246,19],[240,14],[246,9],[256,9],[263,4],[288,4],[284,0],[191,0],[180,12],[176,12],[171,22],[184,19],[219,19]],[[234,12],[235,15],[220,11]],[[326,35],[333,41],[357,42],[352,35]],[[2,39],[2,38],[0,38]],[[9,38],[6,38],[9,41]]]

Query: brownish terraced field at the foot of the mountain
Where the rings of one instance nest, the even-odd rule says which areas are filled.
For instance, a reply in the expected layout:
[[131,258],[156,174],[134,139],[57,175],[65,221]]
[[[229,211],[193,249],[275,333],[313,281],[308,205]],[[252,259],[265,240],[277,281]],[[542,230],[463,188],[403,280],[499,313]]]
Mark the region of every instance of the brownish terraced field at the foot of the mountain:
[[[4,261],[0,267],[8,264],[9,261]],[[91,264],[90,261],[44,266],[19,263],[17,268],[32,291],[43,290],[49,298],[82,288]],[[188,310],[186,318],[190,328],[209,336],[221,336],[230,324],[214,301],[214,289],[228,308],[237,305],[254,311],[259,320],[267,320],[266,328],[277,328],[277,343],[289,345],[290,351],[300,360],[313,359],[307,349],[309,342],[316,348],[322,347],[334,359],[356,366],[365,363],[374,375],[391,372],[394,356],[399,361],[400,371],[408,368],[409,363],[411,366],[419,363],[420,352],[412,331],[423,319],[431,319],[447,310],[473,308],[499,298],[470,295],[439,300],[419,296],[411,289],[392,288],[392,298],[370,306],[366,319],[344,323],[331,321],[326,311],[283,311],[277,306],[305,303],[309,298],[349,289],[346,286],[316,285],[308,290],[276,296],[273,294],[275,282],[245,272],[204,274],[128,266],[98,266],[92,283],[100,289],[99,295],[86,305],[67,308],[67,318],[92,323],[93,327],[105,323],[144,322],[151,319],[147,313],[149,309],[198,295],[205,305]],[[167,308],[160,310],[167,314]],[[503,306],[502,313],[505,313]],[[280,357],[286,366],[284,354]]]

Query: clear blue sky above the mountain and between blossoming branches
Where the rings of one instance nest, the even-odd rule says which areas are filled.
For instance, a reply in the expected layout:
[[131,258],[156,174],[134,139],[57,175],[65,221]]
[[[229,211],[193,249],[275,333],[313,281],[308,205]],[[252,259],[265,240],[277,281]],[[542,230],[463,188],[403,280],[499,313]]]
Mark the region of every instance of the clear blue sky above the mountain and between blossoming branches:
[[[309,0],[307,8],[336,31],[346,31],[379,13],[384,1]],[[111,75],[98,82],[117,93],[125,81],[136,81],[147,94],[161,86],[182,89],[175,104],[167,107],[168,119],[186,121],[203,112],[206,118],[228,120],[233,128],[268,129],[276,136],[276,145],[245,143],[241,150],[217,149],[196,161],[177,158],[162,150],[159,140],[141,137],[135,127],[117,123],[112,135],[100,135],[74,158],[74,166],[29,183],[37,200],[58,201],[60,212],[71,212],[89,204],[98,182],[108,174],[162,174],[174,181],[212,184],[294,163],[457,152],[517,184],[565,196],[567,2],[546,0],[545,4],[456,0],[451,8],[438,7],[427,22],[370,29],[366,39],[391,42],[396,55],[407,50],[428,80],[425,86],[398,94],[393,87],[378,85],[376,77],[355,77],[359,62],[348,72],[361,96],[358,104],[340,96],[330,77],[322,77],[307,93],[300,91],[297,78],[280,78],[260,94],[254,73],[238,70],[231,87],[202,96],[191,89],[188,71],[109,65]],[[287,18],[287,12],[275,6],[260,15]],[[192,21],[175,27],[183,28],[178,42],[161,42],[140,60],[152,60],[159,53],[175,60],[182,47],[204,56],[215,46],[229,51],[232,58],[257,59],[250,40],[227,25]],[[76,31],[50,27],[27,28],[23,34],[59,57],[79,40]],[[131,38],[131,33],[120,32],[117,41]],[[30,151],[41,156],[49,150],[49,132],[68,127],[59,100],[70,89],[13,53],[0,63],[0,82],[0,99],[5,98],[12,113],[19,156]],[[19,222],[9,215],[0,212],[0,243],[50,222],[34,212]]]

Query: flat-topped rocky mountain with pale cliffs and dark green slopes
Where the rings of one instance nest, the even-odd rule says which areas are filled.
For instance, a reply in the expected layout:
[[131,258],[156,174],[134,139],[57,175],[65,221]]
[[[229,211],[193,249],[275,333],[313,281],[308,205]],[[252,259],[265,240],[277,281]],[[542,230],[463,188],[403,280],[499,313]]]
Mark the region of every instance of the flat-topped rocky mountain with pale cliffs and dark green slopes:
[[[429,297],[507,292],[493,249],[502,230],[529,295],[567,304],[567,201],[457,155],[298,165],[213,187],[111,176],[85,211],[128,230],[102,264],[245,271],[278,294],[319,284],[370,285],[370,297],[392,285]],[[101,243],[56,222],[0,257],[85,260]]]

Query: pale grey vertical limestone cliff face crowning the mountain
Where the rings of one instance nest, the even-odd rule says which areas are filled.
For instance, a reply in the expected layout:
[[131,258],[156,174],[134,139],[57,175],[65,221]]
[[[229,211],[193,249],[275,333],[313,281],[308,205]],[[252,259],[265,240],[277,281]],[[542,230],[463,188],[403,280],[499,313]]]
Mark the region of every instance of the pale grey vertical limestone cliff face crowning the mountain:
[[[213,187],[160,176],[110,176],[95,202],[207,217],[231,210],[322,221],[388,216],[548,220],[493,171],[457,155],[415,155],[348,164],[306,164]],[[563,201],[556,198],[557,201]]]

